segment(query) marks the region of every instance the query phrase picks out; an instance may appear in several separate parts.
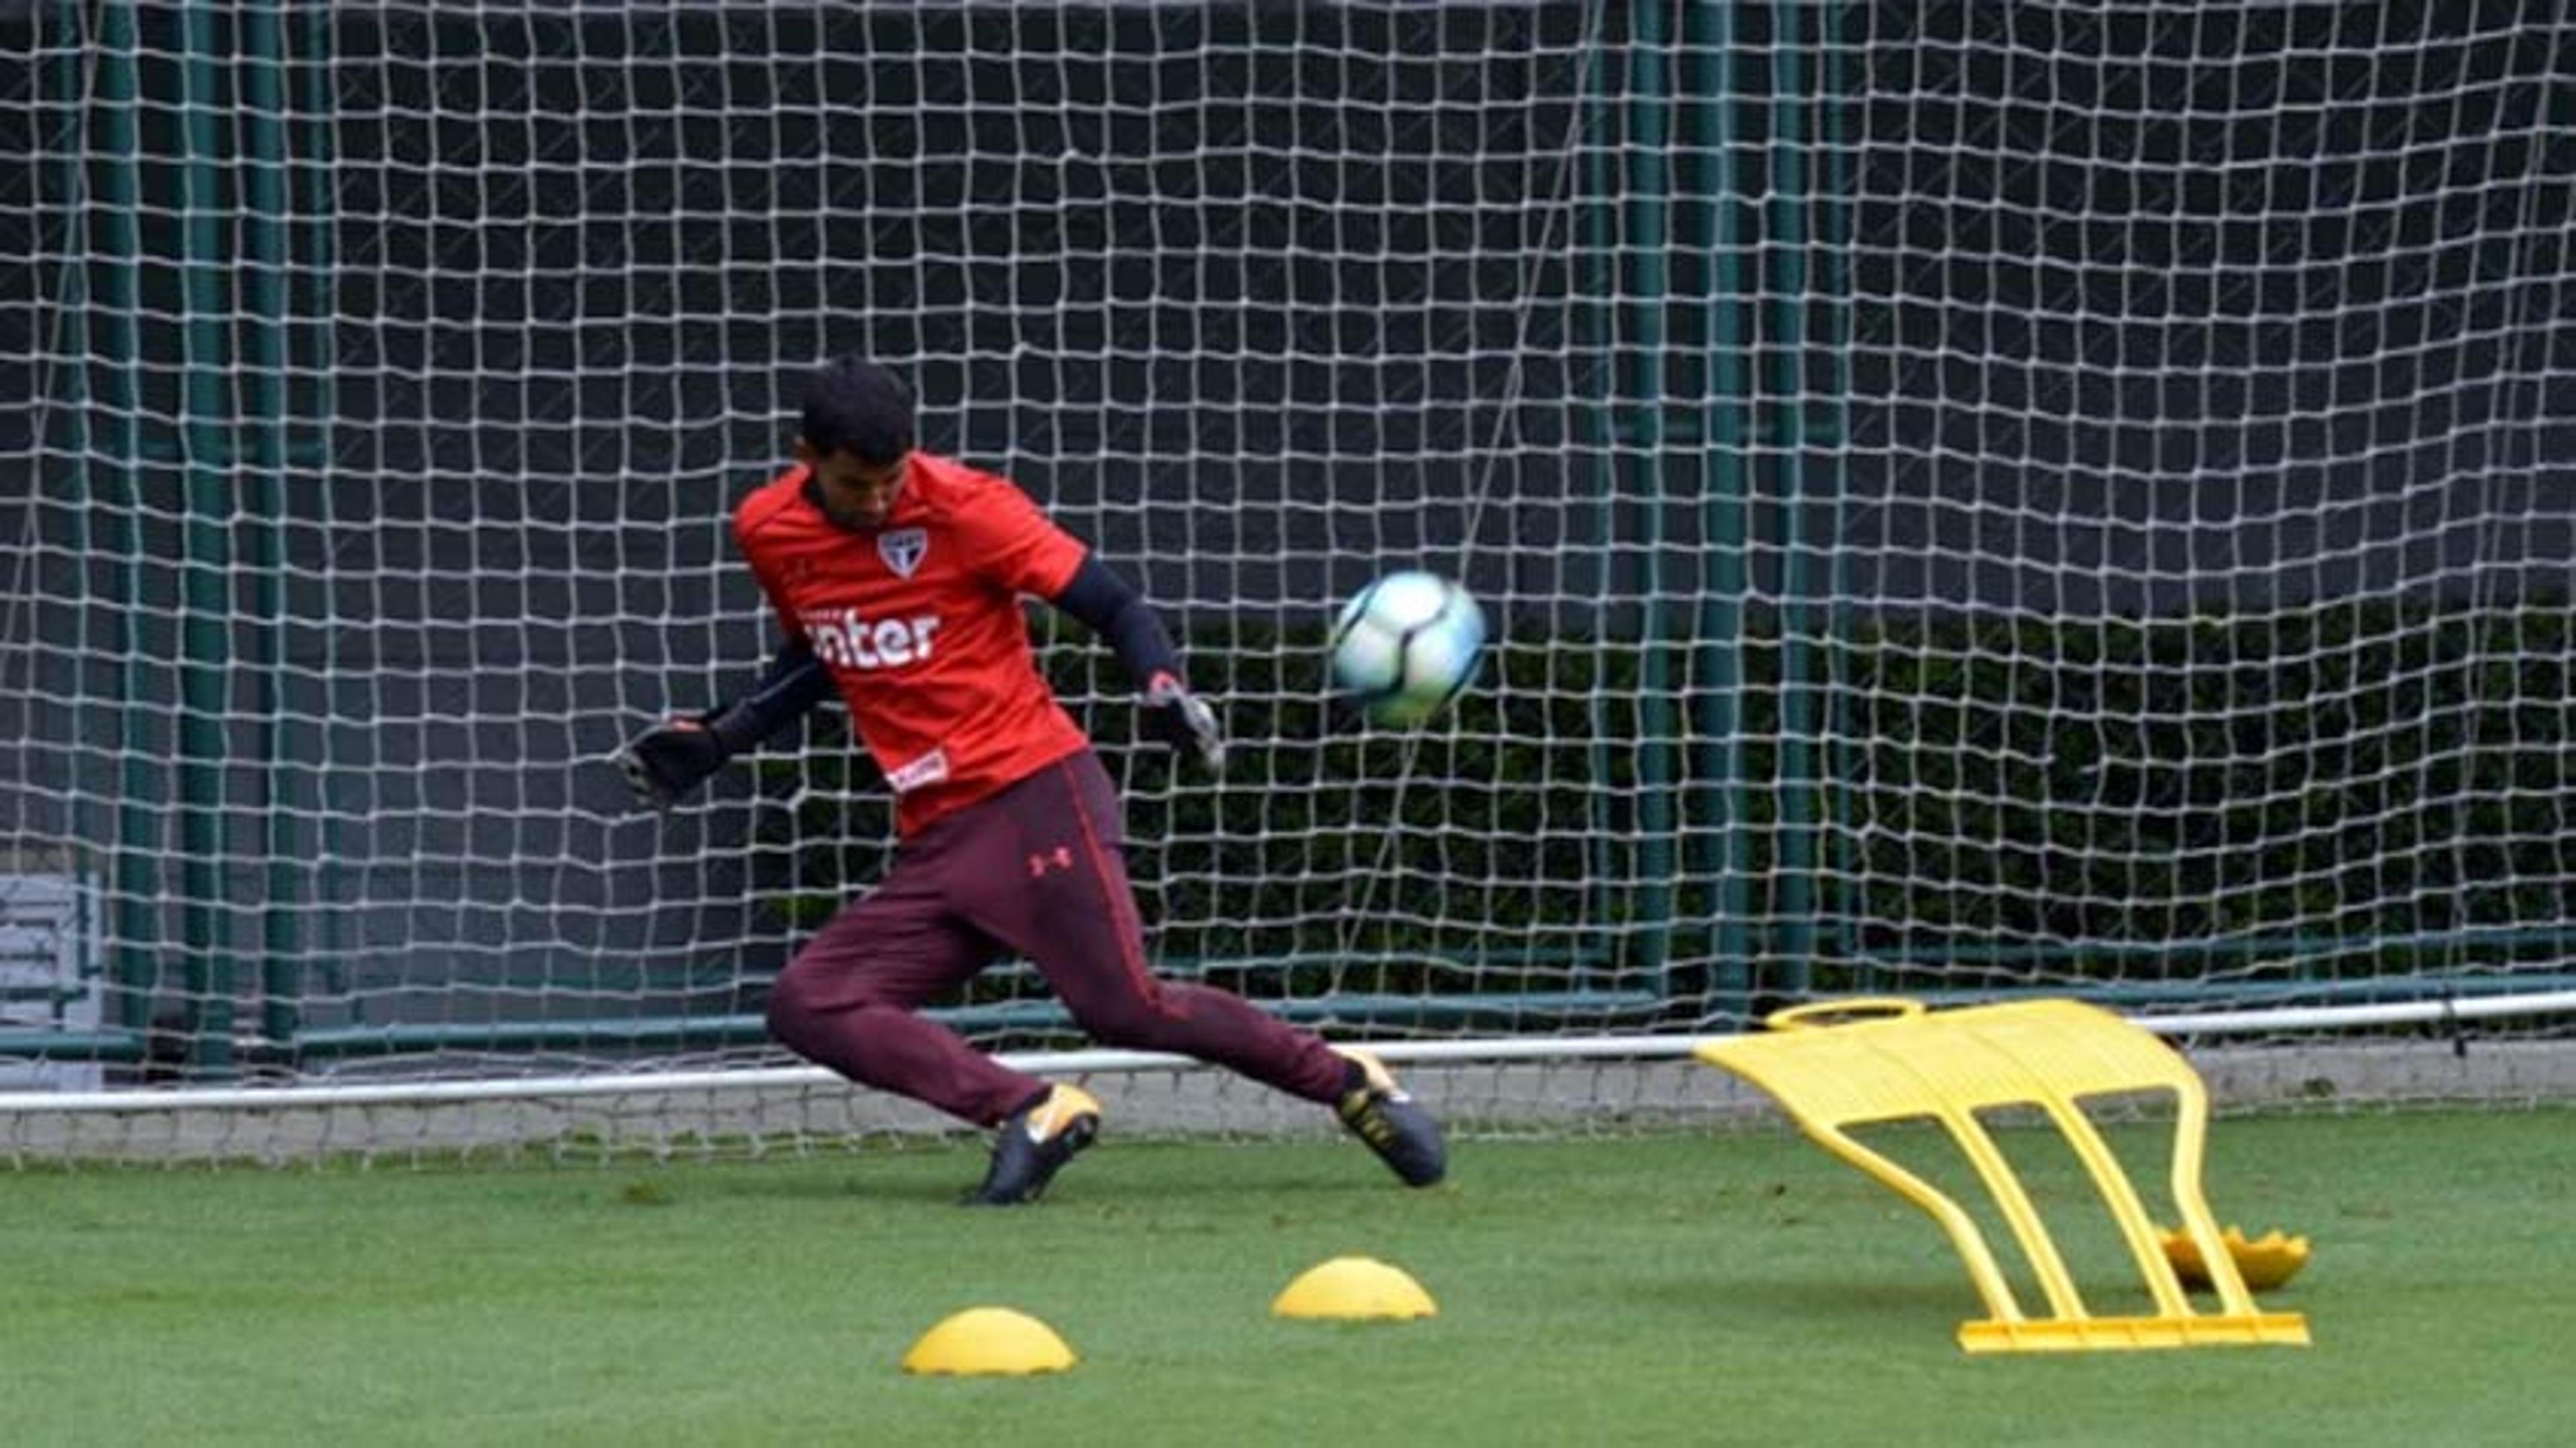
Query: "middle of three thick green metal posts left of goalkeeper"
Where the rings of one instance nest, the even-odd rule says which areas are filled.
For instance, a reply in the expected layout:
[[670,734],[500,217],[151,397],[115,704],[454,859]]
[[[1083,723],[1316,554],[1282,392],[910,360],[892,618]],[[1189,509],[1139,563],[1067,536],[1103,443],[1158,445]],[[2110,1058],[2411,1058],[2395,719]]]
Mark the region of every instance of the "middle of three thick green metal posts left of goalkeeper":
[[180,240],[185,407],[180,438],[188,474],[185,618],[180,621],[180,894],[188,946],[188,1036],[209,1077],[232,1072],[234,961],[224,904],[232,858],[224,809],[224,711],[232,642],[232,407],[227,379],[227,286],[222,214],[222,131],[216,126],[214,13],[180,13]]

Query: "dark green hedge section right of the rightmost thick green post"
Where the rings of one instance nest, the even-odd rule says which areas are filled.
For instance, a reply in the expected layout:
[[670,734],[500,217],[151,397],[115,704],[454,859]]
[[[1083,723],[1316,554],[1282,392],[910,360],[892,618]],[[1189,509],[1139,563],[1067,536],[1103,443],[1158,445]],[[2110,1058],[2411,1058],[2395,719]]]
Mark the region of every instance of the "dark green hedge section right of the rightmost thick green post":
[[1837,654],[1862,943],[2280,938],[2411,969],[2576,925],[2563,603],[1878,626]]

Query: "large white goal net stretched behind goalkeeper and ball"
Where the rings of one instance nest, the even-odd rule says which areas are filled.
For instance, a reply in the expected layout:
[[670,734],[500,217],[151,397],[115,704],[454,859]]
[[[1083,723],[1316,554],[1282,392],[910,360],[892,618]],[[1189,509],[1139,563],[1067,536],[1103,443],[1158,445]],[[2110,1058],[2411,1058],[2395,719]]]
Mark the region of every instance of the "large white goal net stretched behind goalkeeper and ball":
[[[2563,1092],[2571,67],[2540,0],[5,5],[0,1152],[917,1123],[760,1020],[891,858],[840,714],[603,763],[775,647],[724,518],[832,353],[1224,698],[1177,781],[1038,611],[1157,966],[1463,1118],[1723,1110],[1680,1043],[1834,995]],[[1394,567],[1497,626],[1419,732],[1321,683]],[[940,1015],[1136,1064],[1020,964]]]

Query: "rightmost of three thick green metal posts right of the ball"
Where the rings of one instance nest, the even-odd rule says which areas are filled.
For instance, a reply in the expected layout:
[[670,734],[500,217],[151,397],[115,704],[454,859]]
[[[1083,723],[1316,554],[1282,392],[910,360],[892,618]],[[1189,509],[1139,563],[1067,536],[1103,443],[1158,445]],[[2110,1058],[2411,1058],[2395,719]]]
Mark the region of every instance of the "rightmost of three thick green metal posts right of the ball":
[[1772,330],[1777,371],[1772,433],[1780,456],[1780,987],[1803,995],[1816,953],[1816,770],[1808,688],[1806,508],[1806,170],[1801,26],[1803,5],[1772,5]]

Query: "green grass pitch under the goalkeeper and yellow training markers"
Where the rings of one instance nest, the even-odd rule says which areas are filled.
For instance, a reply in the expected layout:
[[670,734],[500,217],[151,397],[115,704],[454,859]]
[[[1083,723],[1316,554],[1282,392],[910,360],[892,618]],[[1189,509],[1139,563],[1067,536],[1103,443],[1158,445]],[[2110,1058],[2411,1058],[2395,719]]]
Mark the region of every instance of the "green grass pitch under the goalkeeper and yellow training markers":
[[[2316,1348],[1968,1358],[1896,1196],[1785,1131],[1110,1141],[1030,1211],[969,1149],[0,1175],[13,1443],[2563,1443],[2568,1113],[2223,1121],[2218,1216],[2316,1239]],[[2027,1136],[2027,1134],[2022,1134]],[[2128,1149],[2123,1136],[2123,1149]],[[2043,1167],[2030,1167],[2045,1175]],[[1363,1252],[1440,1317],[1267,1314]],[[2092,1278],[2087,1278],[2092,1281]],[[979,1304],[1082,1366],[912,1378]]]

